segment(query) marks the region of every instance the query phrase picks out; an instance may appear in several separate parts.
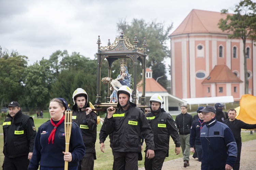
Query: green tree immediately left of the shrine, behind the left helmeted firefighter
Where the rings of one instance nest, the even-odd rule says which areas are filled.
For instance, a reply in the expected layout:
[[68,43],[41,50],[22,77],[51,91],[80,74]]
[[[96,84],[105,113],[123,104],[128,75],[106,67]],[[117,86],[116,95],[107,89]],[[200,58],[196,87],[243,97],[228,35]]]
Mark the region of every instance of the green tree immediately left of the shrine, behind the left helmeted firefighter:
[[59,71],[56,74],[56,81],[52,84],[51,97],[63,97],[72,106],[74,90],[83,88],[89,96],[89,101],[94,104],[97,60],[90,60],[76,52],[69,56],[67,51],[57,51],[53,56],[55,57],[55,64],[52,68],[55,68],[53,69],[55,73],[57,70]]

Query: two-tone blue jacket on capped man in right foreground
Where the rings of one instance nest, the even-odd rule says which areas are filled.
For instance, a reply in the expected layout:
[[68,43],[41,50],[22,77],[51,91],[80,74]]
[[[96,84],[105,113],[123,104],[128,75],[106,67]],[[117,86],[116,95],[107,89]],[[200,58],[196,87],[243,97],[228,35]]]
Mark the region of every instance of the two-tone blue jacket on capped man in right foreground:
[[225,169],[237,160],[237,143],[228,126],[216,118],[206,122],[200,133],[202,144],[202,170]]

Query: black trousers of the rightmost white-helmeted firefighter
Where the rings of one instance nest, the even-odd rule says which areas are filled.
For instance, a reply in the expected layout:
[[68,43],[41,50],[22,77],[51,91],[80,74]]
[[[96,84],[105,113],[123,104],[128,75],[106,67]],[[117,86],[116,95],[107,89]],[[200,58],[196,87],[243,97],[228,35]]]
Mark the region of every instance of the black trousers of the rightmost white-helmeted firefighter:
[[155,151],[155,157],[148,159],[145,153],[145,170],[159,170],[162,169],[163,162],[165,161],[167,151]]

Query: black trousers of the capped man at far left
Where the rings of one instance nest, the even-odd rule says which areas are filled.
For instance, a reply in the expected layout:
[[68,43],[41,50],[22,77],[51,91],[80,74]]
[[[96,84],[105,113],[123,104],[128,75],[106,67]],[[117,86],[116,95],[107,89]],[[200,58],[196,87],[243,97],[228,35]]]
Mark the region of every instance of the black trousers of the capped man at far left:
[[16,158],[4,157],[3,170],[24,170],[28,169],[29,160],[28,155],[19,156]]

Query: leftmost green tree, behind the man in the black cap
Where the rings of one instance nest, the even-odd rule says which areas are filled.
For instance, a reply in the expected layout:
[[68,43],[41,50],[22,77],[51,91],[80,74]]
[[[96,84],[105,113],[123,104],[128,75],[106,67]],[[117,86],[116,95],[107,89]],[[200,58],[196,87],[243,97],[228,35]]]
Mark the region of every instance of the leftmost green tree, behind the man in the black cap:
[[[0,49],[0,54],[3,54]],[[0,99],[1,106],[10,101],[18,101],[23,104],[23,77],[27,67],[28,57],[19,55],[18,52],[4,52],[0,58]]]

